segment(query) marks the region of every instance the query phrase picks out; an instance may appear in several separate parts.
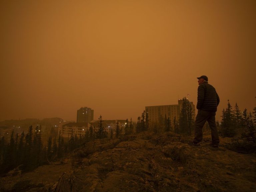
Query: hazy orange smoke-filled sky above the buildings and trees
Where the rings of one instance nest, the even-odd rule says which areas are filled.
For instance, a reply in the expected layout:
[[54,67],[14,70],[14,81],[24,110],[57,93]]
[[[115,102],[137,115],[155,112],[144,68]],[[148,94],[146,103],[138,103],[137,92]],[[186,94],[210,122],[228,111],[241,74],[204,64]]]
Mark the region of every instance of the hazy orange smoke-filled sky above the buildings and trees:
[[136,121],[145,106],[219,96],[256,106],[256,1],[1,1],[0,120]]

